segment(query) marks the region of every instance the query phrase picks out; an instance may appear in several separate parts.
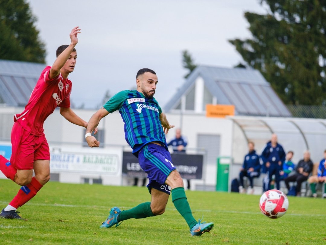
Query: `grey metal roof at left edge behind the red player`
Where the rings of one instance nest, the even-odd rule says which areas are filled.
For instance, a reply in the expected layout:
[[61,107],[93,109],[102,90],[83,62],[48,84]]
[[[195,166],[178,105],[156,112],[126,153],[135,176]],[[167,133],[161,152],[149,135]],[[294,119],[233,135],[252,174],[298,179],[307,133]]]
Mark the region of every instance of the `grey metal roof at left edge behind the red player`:
[[44,64],[0,59],[0,104],[25,106]]

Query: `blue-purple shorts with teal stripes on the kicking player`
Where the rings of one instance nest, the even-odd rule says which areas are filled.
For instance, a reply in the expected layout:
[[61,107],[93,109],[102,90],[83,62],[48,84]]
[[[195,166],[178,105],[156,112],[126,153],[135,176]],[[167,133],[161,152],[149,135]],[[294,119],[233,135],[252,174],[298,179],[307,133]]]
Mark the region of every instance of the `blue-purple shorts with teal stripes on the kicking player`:
[[142,170],[147,173],[149,192],[154,188],[170,195],[171,188],[165,181],[170,172],[176,169],[172,164],[170,152],[163,146],[149,143],[139,151],[138,160]]

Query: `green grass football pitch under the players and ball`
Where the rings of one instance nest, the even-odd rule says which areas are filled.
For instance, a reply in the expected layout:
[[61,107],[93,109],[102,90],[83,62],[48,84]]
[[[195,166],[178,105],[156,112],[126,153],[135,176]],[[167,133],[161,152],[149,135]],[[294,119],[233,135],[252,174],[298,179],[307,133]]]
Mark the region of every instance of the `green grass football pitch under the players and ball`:
[[[0,180],[0,207],[19,186]],[[99,228],[112,206],[149,202],[147,188],[49,182],[19,208],[28,219],[0,219],[0,244],[326,244],[326,200],[289,197],[289,210],[272,220],[259,211],[257,195],[186,191],[196,219],[214,222],[210,233],[191,237],[171,199],[157,217]]]

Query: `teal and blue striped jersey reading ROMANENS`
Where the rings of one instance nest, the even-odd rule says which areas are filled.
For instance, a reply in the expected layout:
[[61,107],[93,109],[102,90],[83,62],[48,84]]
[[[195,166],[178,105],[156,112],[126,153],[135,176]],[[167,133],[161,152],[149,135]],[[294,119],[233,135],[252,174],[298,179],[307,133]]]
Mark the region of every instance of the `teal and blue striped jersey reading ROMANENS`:
[[155,98],[148,99],[137,90],[123,90],[103,106],[109,113],[119,110],[125,123],[125,138],[138,157],[149,142],[158,141],[168,150],[159,115],[161,107]]

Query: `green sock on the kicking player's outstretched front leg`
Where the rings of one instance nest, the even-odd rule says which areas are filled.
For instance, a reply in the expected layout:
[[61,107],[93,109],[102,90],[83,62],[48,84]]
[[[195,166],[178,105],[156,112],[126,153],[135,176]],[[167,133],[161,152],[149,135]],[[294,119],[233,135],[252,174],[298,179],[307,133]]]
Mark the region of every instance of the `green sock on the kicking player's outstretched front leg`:
[[172,203],[178,212],[184,217],[187,222],[189,228],[194,227],[198,222],[192,216],[192,212],[187,201],[187,197],[185,196],[185,188],[178,187],[171,190],[172,195]]

